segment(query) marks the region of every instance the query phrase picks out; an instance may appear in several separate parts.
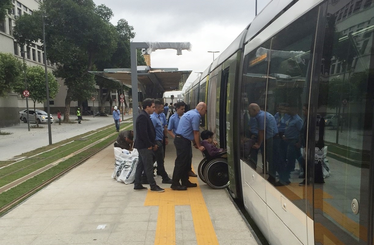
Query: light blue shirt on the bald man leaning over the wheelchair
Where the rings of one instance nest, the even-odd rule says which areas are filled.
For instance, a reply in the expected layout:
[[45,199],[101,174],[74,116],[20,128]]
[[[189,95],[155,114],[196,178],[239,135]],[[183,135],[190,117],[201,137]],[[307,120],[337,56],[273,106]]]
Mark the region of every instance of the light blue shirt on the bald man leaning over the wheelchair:
[[193,140],[193,131],[199,131],[201,115],[196,109],[189,110],[181,117],[177,131],[175,134],[180,134],[184,138]]

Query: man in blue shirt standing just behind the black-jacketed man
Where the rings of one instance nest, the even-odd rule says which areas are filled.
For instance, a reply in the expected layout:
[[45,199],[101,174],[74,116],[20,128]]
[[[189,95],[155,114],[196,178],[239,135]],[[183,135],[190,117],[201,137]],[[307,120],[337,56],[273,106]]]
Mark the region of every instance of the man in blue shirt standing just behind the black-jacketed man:
[[168,173],[166,173],[164,166],[164,151],[162,144],[164,140],[165,144],[168,144],[168,136],[166,136],[165,125],[163,117],[161,116],[161,114],[163,114],[163,104],[161,101],[154,100],[154,108],[154,112],[151,114],[151,120],[156,131],[157,150],[154,151],[154,156],[157,161],[157,172],[162,177],[162,183],[171,184],[172,181],[169,178]]

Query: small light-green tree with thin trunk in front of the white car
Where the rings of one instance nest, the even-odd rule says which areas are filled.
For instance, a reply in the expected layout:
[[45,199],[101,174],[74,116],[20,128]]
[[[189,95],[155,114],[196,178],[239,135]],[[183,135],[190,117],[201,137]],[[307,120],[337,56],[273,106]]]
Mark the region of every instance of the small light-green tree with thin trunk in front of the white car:
[[[52,72],[47,72],[48,75],[48,90],[49,90],[49,98],[55,98],[60,85],[56,81],[55,76],[53,76]],[[28,66],[26,70],[26,81],[28,86],[28,91],[30,91],[30,98],[34,102],[34,111],[35,111],[35,103],[38,101],[39,103],[43,103],[47,100],[46,94],[46,78],[45,78],[45,70],[42,66]],[[25,84],[23,81],[19,81],[14,90],[20,94],[25,89]],[[35,114],[35,122],[36,126],[39,127],[39,123],[36,120]]]

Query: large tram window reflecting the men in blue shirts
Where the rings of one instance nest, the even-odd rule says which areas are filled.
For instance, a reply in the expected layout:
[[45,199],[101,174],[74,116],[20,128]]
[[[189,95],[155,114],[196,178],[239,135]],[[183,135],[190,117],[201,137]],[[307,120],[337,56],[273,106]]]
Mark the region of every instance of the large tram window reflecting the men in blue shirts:
[[[317,16],[315,8],[245,57],[242,159],[290,200],[300,196],[304,188],[294,186],[299,187],[303,180],[299,179],[299,175],[303,177],[301,146],[305,147],[303,128],[307,118],[303,105],[309,101],[307,77],[312,67],[310,50],[314,47]],[[260,112],[253,111],[253,103]],[[295,204],[306,210],[303,197]]]

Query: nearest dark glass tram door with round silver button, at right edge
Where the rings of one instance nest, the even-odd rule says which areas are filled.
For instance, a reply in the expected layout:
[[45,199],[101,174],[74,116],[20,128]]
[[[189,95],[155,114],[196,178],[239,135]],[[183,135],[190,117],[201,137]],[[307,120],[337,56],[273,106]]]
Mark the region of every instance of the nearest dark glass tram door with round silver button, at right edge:
[[373,244],[374,2],[333,2],[315,101],[315,244]]

